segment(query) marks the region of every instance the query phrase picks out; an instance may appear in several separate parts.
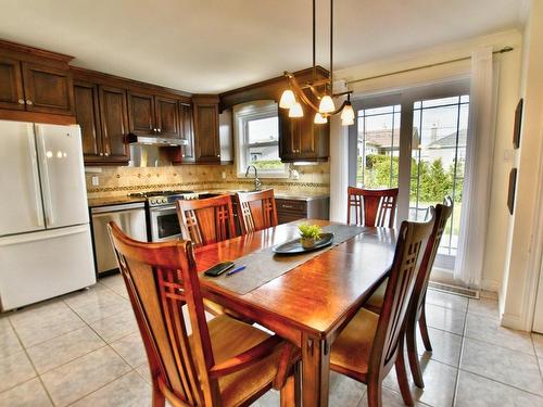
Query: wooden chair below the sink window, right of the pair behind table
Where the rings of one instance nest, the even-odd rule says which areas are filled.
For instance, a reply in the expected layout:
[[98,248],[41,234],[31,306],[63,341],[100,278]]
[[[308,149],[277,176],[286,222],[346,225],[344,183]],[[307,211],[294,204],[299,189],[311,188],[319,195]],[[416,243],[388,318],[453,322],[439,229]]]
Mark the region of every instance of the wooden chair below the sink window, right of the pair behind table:
[[243,234],[277,226],[274,190],[238,192],[238,218]]

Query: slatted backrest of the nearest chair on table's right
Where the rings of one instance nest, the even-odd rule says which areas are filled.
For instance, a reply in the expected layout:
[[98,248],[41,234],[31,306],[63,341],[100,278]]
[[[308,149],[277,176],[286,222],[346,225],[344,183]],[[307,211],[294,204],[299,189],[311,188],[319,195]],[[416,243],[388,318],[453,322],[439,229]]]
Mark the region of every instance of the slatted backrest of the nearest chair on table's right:
[[370,369],[374,371],[388,371],[399,341],[403,340],[407,310],[433,222],[433,216],[427,222],[402,222],[371,348]]

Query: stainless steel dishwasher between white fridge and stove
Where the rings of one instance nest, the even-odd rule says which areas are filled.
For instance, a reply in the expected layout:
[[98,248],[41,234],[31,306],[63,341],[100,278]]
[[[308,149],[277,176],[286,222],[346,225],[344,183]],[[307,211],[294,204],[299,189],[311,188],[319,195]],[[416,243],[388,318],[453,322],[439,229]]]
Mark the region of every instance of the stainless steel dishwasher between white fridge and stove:
[[114,221],[132,239],[147,242],[147,218],[144,202],[97,206],[90,208],[94,264],[97,274],[118,270],[117,259],[108,233],[108,224]]

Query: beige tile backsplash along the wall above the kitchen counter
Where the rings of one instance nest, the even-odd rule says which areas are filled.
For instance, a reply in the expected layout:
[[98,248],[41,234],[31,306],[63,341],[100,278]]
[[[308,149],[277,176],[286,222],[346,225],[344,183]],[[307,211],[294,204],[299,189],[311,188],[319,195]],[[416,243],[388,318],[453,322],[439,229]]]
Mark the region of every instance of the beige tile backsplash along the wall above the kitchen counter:
[[[329,163],[291,166],[299,178],[262,178],[263,188],[310,193],[330,192]],[[98,177],[98,186],[92,185]],[[126,195],[146,190],[251,189],[252,177],[238,178],[235,165],[178,165],[167,167],[102,167],[86,174],[89,198]]]

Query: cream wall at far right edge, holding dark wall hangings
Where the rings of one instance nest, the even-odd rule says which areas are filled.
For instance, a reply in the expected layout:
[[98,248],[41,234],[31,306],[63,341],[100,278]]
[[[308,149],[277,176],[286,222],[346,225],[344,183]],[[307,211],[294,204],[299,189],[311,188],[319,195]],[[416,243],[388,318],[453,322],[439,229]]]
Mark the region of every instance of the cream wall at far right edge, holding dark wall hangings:
[[542,255],[543,216],[543,0],[532,2],[525,30],[521,94],[525,99],[514,216],[507,230],[502,323],[531,330]]

